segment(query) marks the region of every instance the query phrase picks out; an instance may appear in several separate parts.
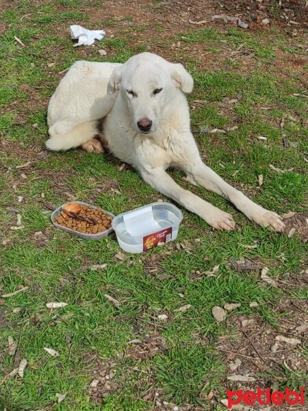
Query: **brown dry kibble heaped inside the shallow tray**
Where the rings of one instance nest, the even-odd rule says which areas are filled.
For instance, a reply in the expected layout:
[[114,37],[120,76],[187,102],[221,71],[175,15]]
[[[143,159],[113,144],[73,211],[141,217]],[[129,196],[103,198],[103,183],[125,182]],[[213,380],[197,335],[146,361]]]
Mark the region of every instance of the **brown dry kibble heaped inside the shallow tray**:
[[98,234],[111,227],[112,217],[101,208],[82,206],[78,203],[66,203],[55,217],[55,222],[84,234]]

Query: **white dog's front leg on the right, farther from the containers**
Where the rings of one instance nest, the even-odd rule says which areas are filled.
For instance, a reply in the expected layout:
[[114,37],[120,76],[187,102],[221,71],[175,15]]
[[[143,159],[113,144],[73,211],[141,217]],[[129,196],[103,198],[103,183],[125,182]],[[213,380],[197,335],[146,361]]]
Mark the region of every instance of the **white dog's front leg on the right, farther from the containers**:
[[248,219],[255,221],[261,227],[271,227],[277,232],[283,231],[285,226],[281,217],[275,212],[254,203],[242,192],[233,188],[219,177],[213,170],[206,166],[201,160],[197,161],[190,170],[186,170],[188,180],[217,192],[222,197],[231,201],[238,210],[242,211]]

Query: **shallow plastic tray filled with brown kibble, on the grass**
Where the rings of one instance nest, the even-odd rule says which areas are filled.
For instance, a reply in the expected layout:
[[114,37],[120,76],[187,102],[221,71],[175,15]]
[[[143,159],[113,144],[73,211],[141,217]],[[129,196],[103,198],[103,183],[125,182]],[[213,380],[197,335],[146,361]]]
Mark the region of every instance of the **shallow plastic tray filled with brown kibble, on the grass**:
[[88,240],[110,234],[113,218],[114,214],[82,201],[65,203],[51,214],[55,227]]

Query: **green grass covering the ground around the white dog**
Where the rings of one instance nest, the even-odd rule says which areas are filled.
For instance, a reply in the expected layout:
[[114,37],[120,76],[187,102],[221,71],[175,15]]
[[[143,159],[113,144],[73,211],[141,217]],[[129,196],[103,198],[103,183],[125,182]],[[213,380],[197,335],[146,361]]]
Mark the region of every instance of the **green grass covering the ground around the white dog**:
[[[23,379],[12,377],[2,382],[0,410],[144,411],[153,406],[152,399],[144,399],[145,394],[159,390],[164,400],[177,405],[195,403],[222,411],[217,404],[225,397],[229,371],[216,345],[232,327],[225,321],[218,324],[211,308],[241,303],[229,314],[230,321],[257,314],[264,327],[279,329],[279,303],[289,298],[305,302],[308,298],[307,287],[271,288],[262,284],[259,271],[235,272],[229,258],[259,258],[270,267],[270,276],[284,279],[288,273],[303,269],[305,244],[297,235],[287,238],[257,227],[222,197],[184,182],[177,171],[170,173],[179,184],[231,212],[238,228],[231,233],[214,232],[198,216],[182,210],[184,219],[176,245],[182,243],[188,249],[170,244],[145,256],[127,255],[124,261],[115,257],[119,247],[114,235],[86,242],[53,229],[50,212],[40,203],[42,193],[55,205],[74,195],[114,214],[165,198],[129,167],[118,171],[120,162],[110,155],[75,150],[49,153],[38,160],[47,139],[48,100],[62,77],[59,72],[76,60],[101,61],[98,48],[107,49],[108,61],[125,62],[149,45],[169,47],[181,41],[180,50],[170,51],[170,60],[181,58],[194,77],[194,92],[188,96],[194,107],[192,131],[207,164],[230,184],[248,191],[262,206],[280,213],[300,212],[307,209],[307,99],[293,95],[303,94],[303,85],[291,75],[281,76],[273,62],[277,48],[296,54],[303,49],[292,45],[278,29],[264,35],[233,28],[222,32],[214,27],[194,27],[175,36],[158,22],[159,35],[153,36],[149,34],[152,24],[138,21],[136,25],[133,15],[117,20],[105,10],[107,4],[96,0],[46,3],[30,7],[28,1],[21,0],[4,8],[0,17],[5,24],[0,34],[0,295],[14,292],[18,286],[29,287],[19,295],[0,299],[0,310],[5,309],[5,321],[10,323],[1,327],[0,381],[14,368],[14,357],[7,352],[8,336],[14,337],[22,358],[28,361]],[[155,7],[159,7],[157,1],[153,1]],[[103,10],[98,14],[105,19],[100,24],[113,27],[116,34],[86,51],[73,48],[68,25],[97,28],[92,10]],[[123,25],[118,27],[120,21]],[[133,33],[138,33],[138,44],[131,38]],[[18,45],[14,36],[26,47]],[[305,44],[301,38],[297,42]],[[254,53],[246,70],[242,70],[241,59],[224,55],[226,47],[236,51],[243,43],[244,49]],[[216,66],[207,66],[207,55],[203,61],[190,49],[183,50],[194,45],[209,52]],[[227,99],[236,102],[228,105]],[[209,133],[211,128],[233,125],[238,128],[227,134]],[[298,142],[296,148],[283,147],[283,133]],[[258,140],[260,135],[266,136],[266,142]],[[31,161],[27,169],[15,168],[27,161]],[[293,171],[278,174],[270,164]],[[257,183],[260,174],[264,175],[261,188]],[[21,203],[18,196],[23,196]],[[17,212],[23,229],[13,231],[10,227],[16,224]],[[201,240],[195,242],[196,238]],[[2,246],[3,239],[11,241]],[[253,244],[257,248],[245,247]],[[104,263],[104,270],[77,272],[81,266]],[[209,271],[217,264],[216,277],[192,280],[192,271]],[[148,265],[157,266],[157,272],[149,273]],[[119,308],[105,300],[106,293],[120,301]],[[46,303],[51,301],[64,301],[68,306],[49,310]],[[251,301],[260,306],[250,308]],[[178,312],[185,304],[192,306],[190,310]],[[168,321],[159,321],[159,313],[168,313]],[[70,343],[66,343],[68,333]],[[116,360],[114,379],[120,389],[98,403],[89,399],[96,360],[86,363],[86,356],[96,353],[102,361],[116,358],[119,351],[129,350],[129,340],[145,340],[147,335],[164,338],[166,350],[152,358]],[[207,344],[201,344],[196,335]],[[60,356],[49,356],[44,347],[57,350]],[[264,378],[272,381],[271,372],[269,366]],[[305,379],[305,370],[290,373],[281,367],[278,377],[281,386],[296,387]],[[204,400],[211,390],[218,399],[213,406]],[[57,404],[56,393],[67,393],[61,404]]]

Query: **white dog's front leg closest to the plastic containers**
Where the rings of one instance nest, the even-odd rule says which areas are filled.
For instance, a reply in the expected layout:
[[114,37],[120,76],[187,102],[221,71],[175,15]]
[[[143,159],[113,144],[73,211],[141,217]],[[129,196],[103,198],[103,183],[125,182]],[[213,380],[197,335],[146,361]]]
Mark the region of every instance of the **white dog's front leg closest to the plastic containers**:
[[219,208],[212,206],[192,192],[181,188],[164,169],[143,169],[141,175],[151,187],[177,201],[191,212],[198,214],[212,227],[227,231],[235,227],[231,214],[219,210]]

